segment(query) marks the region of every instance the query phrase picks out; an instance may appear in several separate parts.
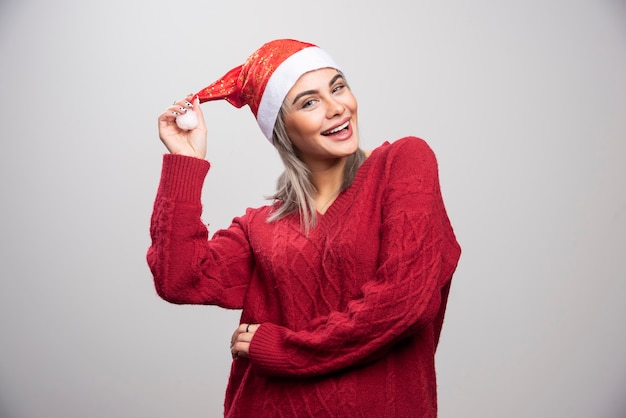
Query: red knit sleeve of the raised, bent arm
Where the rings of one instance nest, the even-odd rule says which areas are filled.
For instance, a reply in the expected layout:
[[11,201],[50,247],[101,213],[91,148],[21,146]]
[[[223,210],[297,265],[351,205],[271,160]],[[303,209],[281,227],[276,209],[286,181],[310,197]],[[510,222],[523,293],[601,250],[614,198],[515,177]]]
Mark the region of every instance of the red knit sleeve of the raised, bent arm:
[[163,299],[240,309],[253,266],[245,217],[208,239],[201,192],[209,167],[193,157],[164,156],[147,261]]

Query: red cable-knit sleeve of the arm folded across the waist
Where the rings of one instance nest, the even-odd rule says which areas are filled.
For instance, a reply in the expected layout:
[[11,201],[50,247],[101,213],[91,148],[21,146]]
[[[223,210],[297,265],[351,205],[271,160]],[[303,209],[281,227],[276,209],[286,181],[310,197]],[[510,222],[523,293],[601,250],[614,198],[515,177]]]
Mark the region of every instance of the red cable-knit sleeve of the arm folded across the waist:
[[429,326],[436,344],[460,256],[437,170],[434,154],[416,138],[390,153],[376,277],[345,311],[307,329],[262,324],[250,345],[253,368],[275,376],[331,373],[376,359]]

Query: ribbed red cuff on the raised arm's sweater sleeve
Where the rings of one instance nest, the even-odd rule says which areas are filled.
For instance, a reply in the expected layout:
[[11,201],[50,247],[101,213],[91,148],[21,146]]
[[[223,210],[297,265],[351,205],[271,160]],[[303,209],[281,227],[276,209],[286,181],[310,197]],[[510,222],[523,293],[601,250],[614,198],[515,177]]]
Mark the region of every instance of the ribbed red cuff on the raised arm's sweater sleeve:
[[159,197],[175,201],[195,202],[200,200],[204,179],[211,164],[200,158],[185,155],[163,155]]

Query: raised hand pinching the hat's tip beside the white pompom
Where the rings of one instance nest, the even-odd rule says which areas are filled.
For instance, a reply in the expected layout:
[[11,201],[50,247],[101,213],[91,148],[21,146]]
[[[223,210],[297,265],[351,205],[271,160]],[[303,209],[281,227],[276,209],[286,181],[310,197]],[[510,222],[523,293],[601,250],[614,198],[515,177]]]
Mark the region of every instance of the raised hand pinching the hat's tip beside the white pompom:
[[[176,116],[193,110],[198,117],[198,126],[186,131],[176,124]],[[206,158],[207,129],[200,109],[200,101],[193,94],[174,104],[159,115],[159,138],[172,154]]]

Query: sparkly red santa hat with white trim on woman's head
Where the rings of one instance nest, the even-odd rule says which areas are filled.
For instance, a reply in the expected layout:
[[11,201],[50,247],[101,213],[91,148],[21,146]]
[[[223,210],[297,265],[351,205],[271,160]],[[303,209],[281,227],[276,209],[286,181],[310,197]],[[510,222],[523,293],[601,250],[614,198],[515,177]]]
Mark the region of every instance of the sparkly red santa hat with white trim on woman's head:
[[294,39],[270,41],[222,78],[200,90],[200,103],[224,99],[235,107],[248,105],[263,135],[272,141],[278,111],[300,76],[320,68],[339,69],[316,45]]

